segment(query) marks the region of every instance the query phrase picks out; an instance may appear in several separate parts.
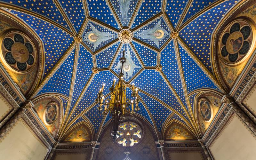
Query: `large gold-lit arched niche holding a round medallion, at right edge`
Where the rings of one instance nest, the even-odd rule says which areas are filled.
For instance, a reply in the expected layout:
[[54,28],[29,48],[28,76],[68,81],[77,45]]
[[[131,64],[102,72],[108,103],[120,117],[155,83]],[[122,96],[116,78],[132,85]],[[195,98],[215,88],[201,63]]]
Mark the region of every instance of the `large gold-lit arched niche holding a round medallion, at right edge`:
[[212,33],[212,68],[227,92],[233,88],[256,48],[256,19],[251,12],[253,9],[253,1],[234,7]]

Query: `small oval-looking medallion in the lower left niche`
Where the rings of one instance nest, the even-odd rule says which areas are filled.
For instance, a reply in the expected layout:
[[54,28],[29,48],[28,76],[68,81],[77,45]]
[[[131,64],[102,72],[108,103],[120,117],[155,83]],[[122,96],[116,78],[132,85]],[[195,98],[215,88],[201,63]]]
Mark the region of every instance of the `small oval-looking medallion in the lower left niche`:
[[55,102],[51,102],[44,110],[44,121],[48,125],[52,125],[58,117],[58,105]]

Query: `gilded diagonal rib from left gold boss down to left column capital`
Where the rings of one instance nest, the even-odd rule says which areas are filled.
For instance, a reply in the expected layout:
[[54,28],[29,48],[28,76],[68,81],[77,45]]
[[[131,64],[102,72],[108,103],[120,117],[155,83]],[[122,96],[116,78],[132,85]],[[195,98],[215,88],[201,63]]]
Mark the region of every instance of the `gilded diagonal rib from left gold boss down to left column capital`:
[[42,82],[39,84],[39,86],[36,88],[36,90],[31,94],[31,96],[28,98],[28,100],[32,100],[36,94],[44,87],[44,85],[50,80],[50,78],[53,76],[53,74],[60,68],[62,63],[68,58],[68,56],[71,54],[73,49],[75,48],[76,42],[73,41],[72,44],[69,46],[67,51],[62,55],[60,60],[56,63],[56,65],[51,69],[51,71],[44,77]]

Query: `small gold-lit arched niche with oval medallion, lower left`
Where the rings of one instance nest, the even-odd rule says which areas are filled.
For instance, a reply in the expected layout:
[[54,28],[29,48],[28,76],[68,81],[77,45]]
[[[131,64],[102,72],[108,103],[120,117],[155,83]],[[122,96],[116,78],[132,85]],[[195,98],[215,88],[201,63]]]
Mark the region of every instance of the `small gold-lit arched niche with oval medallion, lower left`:
[[58,94],[50,93],[36,97],[32,100],[37,115],[45,127],[57,139],[60,126],[63,124],[63,101]]

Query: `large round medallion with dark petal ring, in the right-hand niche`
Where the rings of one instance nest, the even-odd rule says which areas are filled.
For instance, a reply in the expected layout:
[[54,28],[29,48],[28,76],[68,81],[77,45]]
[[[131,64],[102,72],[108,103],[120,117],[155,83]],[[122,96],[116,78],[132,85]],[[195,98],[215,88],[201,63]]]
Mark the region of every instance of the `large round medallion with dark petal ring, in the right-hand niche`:
[[237,64],[247,57],[252,45],[252,28],[246,20],[231,22],[222,32],[219,41],[221,60],[229,65]]

